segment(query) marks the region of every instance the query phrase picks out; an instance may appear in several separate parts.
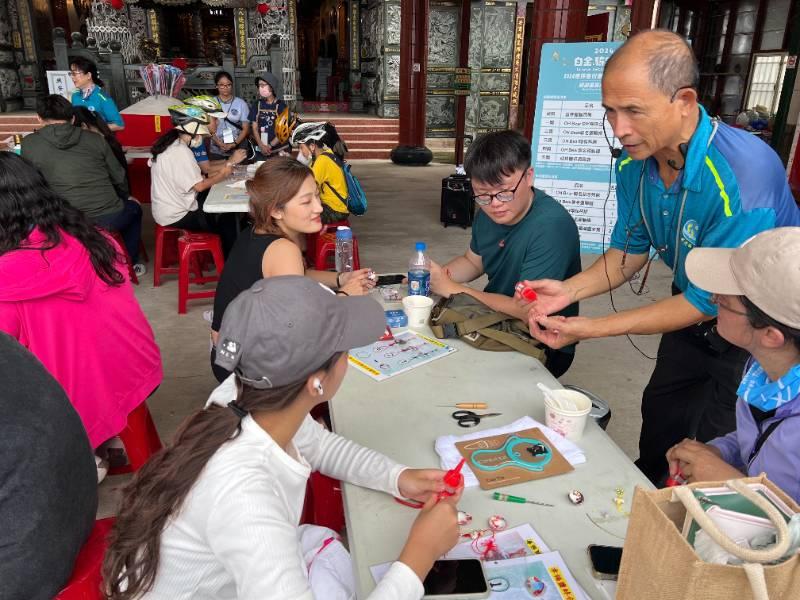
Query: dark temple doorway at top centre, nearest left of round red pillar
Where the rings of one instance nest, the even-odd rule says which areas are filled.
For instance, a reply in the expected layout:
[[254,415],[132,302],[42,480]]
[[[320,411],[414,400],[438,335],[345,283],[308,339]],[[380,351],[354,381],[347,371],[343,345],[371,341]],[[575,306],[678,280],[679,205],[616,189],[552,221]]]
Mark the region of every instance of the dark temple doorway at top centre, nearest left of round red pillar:
[[349,100],[347,4],[342,0],[306,0],[297,5],[297,54],[300,93],[306,104]]

